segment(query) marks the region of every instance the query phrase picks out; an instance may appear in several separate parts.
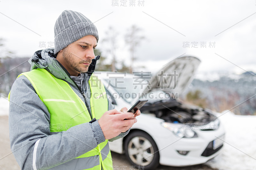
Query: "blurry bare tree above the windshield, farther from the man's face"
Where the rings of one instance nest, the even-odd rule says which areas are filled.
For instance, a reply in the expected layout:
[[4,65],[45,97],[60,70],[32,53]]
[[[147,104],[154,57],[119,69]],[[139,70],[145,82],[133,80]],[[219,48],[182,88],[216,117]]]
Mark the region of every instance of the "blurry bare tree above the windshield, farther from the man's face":
[[142,29],[137,27],[136,25],[132,25],[125,34],[124,40],[125,43],[129,46],[129,51],[131,55],[131,65],[130,65],[130,73],[133,71],[133,63],[136,60],[135,52],[136,48],[139,47],[141,40],[145,39],[143,35],[141,35]]

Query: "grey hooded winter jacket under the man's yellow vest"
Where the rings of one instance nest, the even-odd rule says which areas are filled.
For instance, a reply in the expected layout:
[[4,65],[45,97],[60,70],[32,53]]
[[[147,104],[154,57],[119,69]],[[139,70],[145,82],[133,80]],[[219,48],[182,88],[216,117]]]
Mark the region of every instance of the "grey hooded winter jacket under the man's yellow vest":
[[[91,113],[91,90],[88,80],[99,57],[96,56],[92,60],[87,73],[81,73],[84,74],[84,82],[80,87],[56,60],[54,48],[36,51],[29,63],[31,70],[45,69],[56,78],[66,81],[84,102],[87,101],[87,109]],[[84,98],[82,93],[87,97]],[[114,106],[108,101],[108,110],[112,109]],[[9,131],[11,150],[22,170],[50,169],[90,151],[105,141],[98,120],[71,128],[67,125],[68,130],[57,134],[50,132],[50,124],[50,113],[28,78],[24,75],[17,78],[10,92]],[[124,137],[128,132],[129,130],[109,141]],[[39,139],[40,141],[36,142]]]

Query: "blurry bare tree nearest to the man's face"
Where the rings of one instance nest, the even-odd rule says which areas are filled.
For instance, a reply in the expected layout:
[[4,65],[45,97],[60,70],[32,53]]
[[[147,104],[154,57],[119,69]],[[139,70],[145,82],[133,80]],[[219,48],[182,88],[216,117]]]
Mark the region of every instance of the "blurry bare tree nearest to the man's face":
[[116,70],[116,49],[118,48],[117,46],[118,34],[119,33],[113,27],[110,26],[106,31],[106,37],[102,40],[104,44],[107,44],[106,52],[112,57],[112,62],[111,62],[112,71]]

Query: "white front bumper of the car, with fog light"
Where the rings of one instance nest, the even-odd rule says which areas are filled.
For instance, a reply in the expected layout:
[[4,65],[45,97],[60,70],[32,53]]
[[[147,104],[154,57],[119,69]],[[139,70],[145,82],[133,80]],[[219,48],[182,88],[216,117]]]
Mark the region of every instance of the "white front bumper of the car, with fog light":
[[[170,132],[172,133],[172,132]],[[202,164],[220,154],[223,144],[213,147],[213,141],[223,137],[225,131],[222,125],[216,130],[196,132],[195,138],[176,138],[168,135],[157,140],[161,165],[190,166]],[[181,155],[178,151],[189,151]]]

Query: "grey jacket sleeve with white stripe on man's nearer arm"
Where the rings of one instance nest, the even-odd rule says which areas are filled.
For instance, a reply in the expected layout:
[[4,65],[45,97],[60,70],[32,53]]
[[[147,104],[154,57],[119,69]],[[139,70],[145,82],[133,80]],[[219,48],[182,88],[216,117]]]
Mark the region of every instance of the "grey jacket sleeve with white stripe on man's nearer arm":
[[11,150],[22,170],[58,166],[105,141],[98,121],[51,135],[50,113],[25,76],[12,85],[9,129]]

